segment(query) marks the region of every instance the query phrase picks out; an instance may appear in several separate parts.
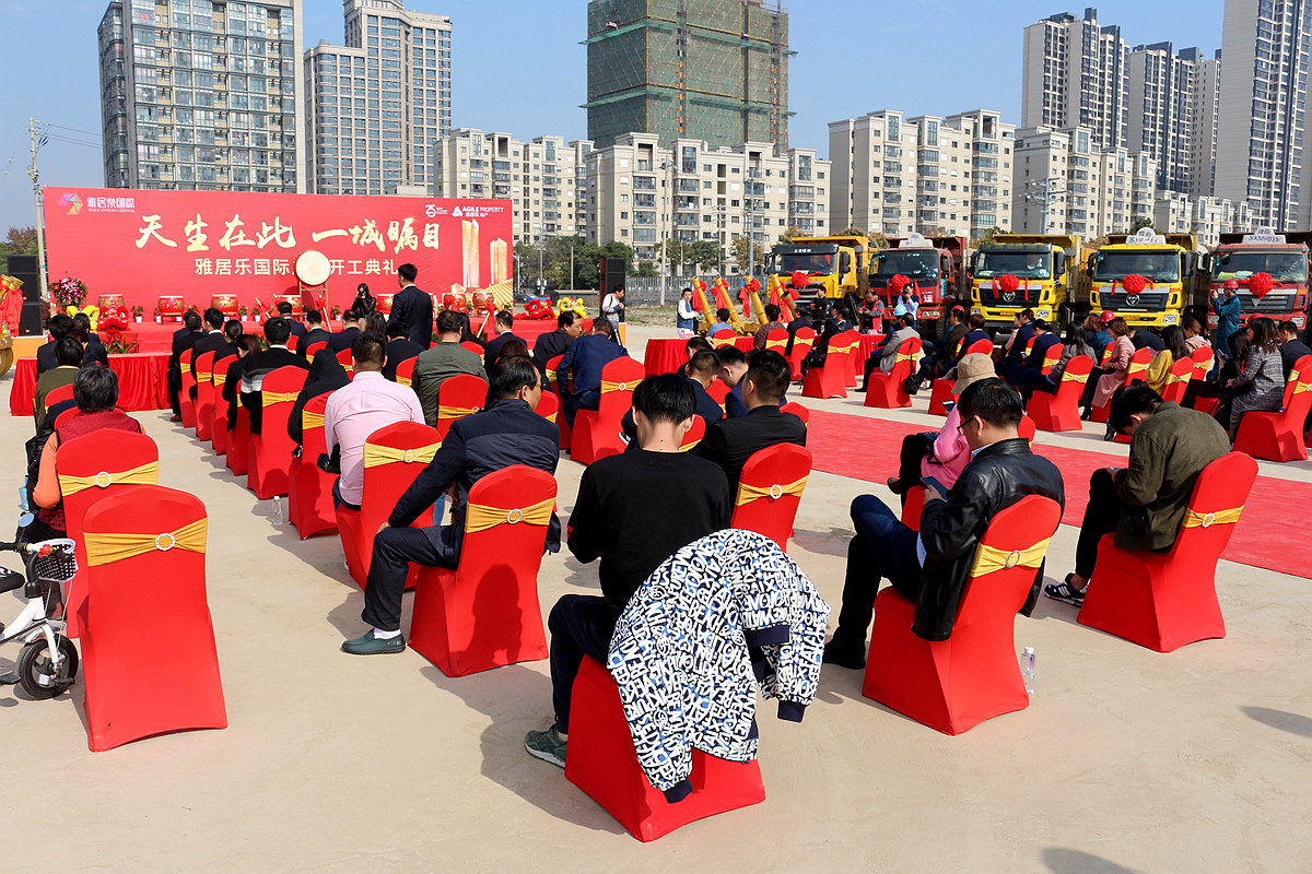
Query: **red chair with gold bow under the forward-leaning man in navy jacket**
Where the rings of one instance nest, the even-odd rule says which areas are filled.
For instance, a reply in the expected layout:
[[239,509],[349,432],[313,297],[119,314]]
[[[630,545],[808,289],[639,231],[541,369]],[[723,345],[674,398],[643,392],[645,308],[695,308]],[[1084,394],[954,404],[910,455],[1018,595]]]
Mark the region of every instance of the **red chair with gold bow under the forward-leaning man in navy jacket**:
[[547,658],[538,569],[555,499],[550,473],[489,473],[464,504],[459,566],[420,569],[409,646],[446,676]]

